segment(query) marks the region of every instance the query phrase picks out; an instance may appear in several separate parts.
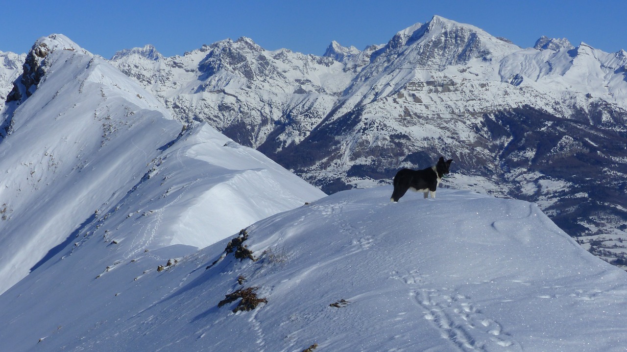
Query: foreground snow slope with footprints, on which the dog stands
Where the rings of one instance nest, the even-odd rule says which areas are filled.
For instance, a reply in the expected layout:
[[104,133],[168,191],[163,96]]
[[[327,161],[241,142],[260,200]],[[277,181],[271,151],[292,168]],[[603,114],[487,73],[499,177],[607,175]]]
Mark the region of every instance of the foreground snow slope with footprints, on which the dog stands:
[[[251,225],[254,262],[225,256],[228,240],[127,256],[131,241],[82,231],[0,296],[0,341],[10,351],[624,350],[627,273],[535,204],[389,194],[339,192]],[[218,307],[242,287],[266,303]]]

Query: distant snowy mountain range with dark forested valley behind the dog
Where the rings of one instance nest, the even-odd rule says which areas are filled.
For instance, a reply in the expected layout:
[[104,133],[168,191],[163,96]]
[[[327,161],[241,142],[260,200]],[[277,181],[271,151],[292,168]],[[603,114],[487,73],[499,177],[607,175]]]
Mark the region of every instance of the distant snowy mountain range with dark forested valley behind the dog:
[[[627,236],[627,53],[567,39],[519,48],[435,16],[325,56],[230,39],[112,64],[182,121],[207,121],[327,193],[452,157],[451,187],[525,199],[616,264]],[[609,242],[605,242],[607,239]],[[608,251],[609,250],[609,251]]]

